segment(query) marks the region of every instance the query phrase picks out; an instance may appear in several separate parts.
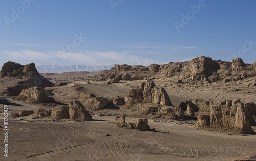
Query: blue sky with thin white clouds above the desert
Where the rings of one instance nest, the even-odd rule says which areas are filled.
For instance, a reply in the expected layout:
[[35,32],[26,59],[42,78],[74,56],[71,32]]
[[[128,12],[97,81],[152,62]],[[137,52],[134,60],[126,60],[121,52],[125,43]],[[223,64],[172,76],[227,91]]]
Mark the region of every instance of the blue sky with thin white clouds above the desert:
[[253,0],[1,0],[0,4],[0,65],[7,61],[150,65],[199,56],[256,61]]

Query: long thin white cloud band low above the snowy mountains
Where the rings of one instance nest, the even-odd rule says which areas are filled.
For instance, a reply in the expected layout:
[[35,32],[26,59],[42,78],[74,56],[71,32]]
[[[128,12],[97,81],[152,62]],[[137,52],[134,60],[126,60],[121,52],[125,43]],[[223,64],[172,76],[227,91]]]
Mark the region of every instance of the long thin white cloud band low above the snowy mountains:
[[1,51],[5,54],[5,60],[18,63],[51,64],[57,62],[63,64],[84,64],[84,65],[113,65],[113,64],[130,64],[130,65],[150,65],[158,63],[143,55],[135,55],[132,51],[80,51],[73,53],[63,53],[61,51],[37,52],[32,50],[19,51]]

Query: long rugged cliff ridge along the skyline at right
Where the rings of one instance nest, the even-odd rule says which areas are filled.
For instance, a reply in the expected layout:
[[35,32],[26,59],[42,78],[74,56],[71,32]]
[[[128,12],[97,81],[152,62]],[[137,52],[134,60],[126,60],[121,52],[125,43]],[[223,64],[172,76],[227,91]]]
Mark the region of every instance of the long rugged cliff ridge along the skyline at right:
[[[245,64],[241,58],[232,59],[231,62],[212,60],[208,57],[198,57],[190,61],[169,62],[168,64],[142,65],[117,65],[111,68],[100,80],[138,80],[147,79],[154,76],[174,77],[198,81],[232,81],[256,76],[256,63]],[[117,82],[117,81],[116,81]]]

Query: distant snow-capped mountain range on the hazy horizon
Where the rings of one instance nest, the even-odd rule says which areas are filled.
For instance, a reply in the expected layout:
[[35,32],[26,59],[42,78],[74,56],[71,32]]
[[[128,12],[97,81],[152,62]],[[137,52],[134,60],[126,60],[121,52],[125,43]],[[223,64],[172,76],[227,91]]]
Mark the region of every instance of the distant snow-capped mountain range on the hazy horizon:
[[100,66],[84,66],[84,65],[38,65],[36,69],[39,73],[63,73],[63,72],[97,72],[101,70],[110,70],[114,65],[100,65]]

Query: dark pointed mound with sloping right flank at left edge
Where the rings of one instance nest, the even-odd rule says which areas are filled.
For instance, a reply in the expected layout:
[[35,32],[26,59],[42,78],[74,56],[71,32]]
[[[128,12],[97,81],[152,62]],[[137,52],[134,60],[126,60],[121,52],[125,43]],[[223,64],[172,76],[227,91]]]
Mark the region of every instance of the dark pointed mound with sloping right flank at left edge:
[[30,87],[51,87],[54,86],[49,80],[41,76],[34,63],[20,65],[8,61],[4,63],[0,72],[1,95],[17,96],[20,91]]

